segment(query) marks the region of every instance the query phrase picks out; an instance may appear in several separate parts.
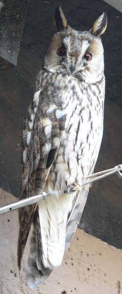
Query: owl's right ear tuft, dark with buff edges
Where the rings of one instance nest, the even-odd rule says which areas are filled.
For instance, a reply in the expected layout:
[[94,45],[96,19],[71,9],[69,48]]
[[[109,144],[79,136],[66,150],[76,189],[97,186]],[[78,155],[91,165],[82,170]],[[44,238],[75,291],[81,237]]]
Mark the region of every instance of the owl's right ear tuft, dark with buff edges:
[[91,34],[98,37],[104,33],[104,31],[106,30],[106,27],[107,27],[107,14],[103,12],[94,23],[93,28],[91,30]]

